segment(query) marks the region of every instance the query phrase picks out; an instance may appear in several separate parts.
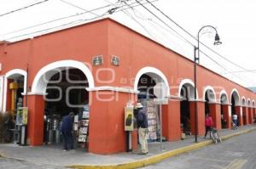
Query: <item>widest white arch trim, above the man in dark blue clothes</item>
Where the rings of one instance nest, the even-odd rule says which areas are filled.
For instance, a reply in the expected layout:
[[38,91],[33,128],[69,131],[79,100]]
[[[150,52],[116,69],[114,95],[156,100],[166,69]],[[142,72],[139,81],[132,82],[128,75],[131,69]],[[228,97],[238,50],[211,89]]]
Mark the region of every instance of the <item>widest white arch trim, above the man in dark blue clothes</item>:
[[47,73],[49,70],[61,69],[61,68],[66,68],[66,67],[73,67],[73,68],[77,68],[77,69],[81,70],[87,78],[89,88],[95,87],[94,79],[93,79],[93,76],[92,76],[88,66],[82,62],[68,59],[68,60],[56,61],[49,65],[45,65],[41,70],[39,70],[37,75],[34,78],[33,83],[32,83],[31,93],[44,94],[46,86],[47,86],[47,82],[44,82],[45,73]]

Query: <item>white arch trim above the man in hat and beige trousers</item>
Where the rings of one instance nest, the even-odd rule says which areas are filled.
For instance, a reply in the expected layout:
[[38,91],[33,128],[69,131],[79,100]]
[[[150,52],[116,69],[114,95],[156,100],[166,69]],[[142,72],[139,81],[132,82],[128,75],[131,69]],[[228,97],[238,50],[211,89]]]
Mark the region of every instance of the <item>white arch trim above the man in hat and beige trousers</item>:
[[167,97],[169,97],[170,94],[170,87],[169,87],[169,83],[167,81],[166,76],[163,74],[163,72],[161,70],[158,70],[154,67],[143,67],[141,70],[138,70],[137,75],[135,77],[135,81],[134,81],[134,91],[137,91],[137,85],[138,82],[140,80],[140,77],[143,76],[143,74],[147,74],[147,73],[154,73],[155,75],[160,76],[160,78],[163,80],[163,82],[166,84],[166,88],[167,88]]

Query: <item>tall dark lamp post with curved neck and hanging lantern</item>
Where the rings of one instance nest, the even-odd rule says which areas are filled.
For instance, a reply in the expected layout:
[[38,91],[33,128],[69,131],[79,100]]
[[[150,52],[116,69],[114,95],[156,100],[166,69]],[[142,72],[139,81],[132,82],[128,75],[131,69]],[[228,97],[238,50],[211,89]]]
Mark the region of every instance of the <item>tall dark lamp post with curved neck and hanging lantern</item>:
[[[196,65],[199,64],[199,55],[200,55],[200,41],[199,41],[199,36],[200,36],[200,32],[204,29],[204,28],[212,28],[215,31],[215,39],[214,39],[214,43],[213,45],[219,45],[222,42],[220,42],[219,37],[218,37],[218,31],[216,30],[215,27],[213,27],[212,25],[205,25],[203,27],[201,27],[201,29],[198,31],[197,33],[197,47],[194,46],[194,82],[195,82],[195,90],[194,90],[194,99],[195,99],[195,143],[197,143],[197,132],[198,132],[198,124],[197,124],[197,100],[196,100],[196,88],[197,88],[197,84],[196,84]],[[196,50],[197,50],[197,57],[196,57]]]

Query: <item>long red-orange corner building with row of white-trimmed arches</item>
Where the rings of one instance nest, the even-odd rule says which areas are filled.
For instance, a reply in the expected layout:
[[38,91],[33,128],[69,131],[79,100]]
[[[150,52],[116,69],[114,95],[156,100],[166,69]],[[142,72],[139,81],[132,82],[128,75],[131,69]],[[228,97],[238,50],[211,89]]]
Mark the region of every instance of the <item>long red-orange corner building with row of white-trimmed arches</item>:
[[193,61],[110,19],[1,42],[0,62],[0,109],[15,111],[21,98],[28,107],[31,145],[44,143],[46,109],[79,111],[75,105],[86,103],[89,151],[103,155],[125,151],[125,105],[129,100],[155,98],[157,84],[169,99],[162,105],[162,130],[168,141],[181,138],[181,123],[184,132],[195,132],[195,102],[199,135],[205,131],[207,112],[218,129],[221,116],[223,127],[230,128],[232,114],[239,116],[240,126],[252,123],[255,115],[255,93],[201,65],[194,99]]

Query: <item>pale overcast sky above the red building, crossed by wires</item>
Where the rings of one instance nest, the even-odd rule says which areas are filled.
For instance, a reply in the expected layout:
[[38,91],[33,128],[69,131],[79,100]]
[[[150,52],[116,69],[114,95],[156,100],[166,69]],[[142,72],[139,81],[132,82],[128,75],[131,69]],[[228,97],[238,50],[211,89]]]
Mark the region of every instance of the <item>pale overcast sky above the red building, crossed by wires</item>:
[[[167,48],[172,48],[177,53],[193,59],[193,46],[189,42],[196,44],[195,39],[189,37],[177,25],[167,20],[165,16],[160,14],[150,4],[144,5],[154,14],[157,14],[161,20],[164,20],[165,24],[155,18],[154,15],[150,14],[142,6],[136,6],[138,5],[136,0],[126,0],[128,5],[123,1],[48,0],[44,2],[44,0],[0,0],[0,41],[8,40],[9,42],[14,42],[27,37],[35,37],[49,31],[63,29],[67,26],[82,24],[91,20],[99,20],[103,15],[103,17],[111,17],[113,20],[117,20],[131,27],[131,29],[154,39],[154,41],[160,42]],[[152,2],[154,0],[150,1]],[[44,3],[6,14],[15,9],[39,2]],[[140,2],[147,3],[146,0],[140,0]],[[207,46],[218,52],[218,54],[231,60],[236,65],[230,64],[229,61],[221,58],[217,54],[213,54],[202,45],[200,47],[201,50],[214,61],[201,54],[200,64],[242,86],[256,86],[255,1],[158,0],[154,2],[154,5],[195,37],[203,25],[212,25],[217,28],[221,42],[223,42],[222,45],[212,45],[214,40],[214,31],[212,29],[201,31],[201,42],[207,44]],[[101,8],[104,6],[106,7]],[[113,14],[104,15],[109,9],[116,7],[119,8]],[[101,9],[93,11],[93,13],[86,13],[86,11],[95,8]],[[126,10],[119,11],[120,9]],[[1,16],[1,14],[5,15]],[[59,20],[60,18],[71,15],[74,16]],[[56,21],[35,26],[49,22],[50,20]],[[28,27],[32,28],[26,29]],[[177,31],[182,37],[178,36],[173,30]],[[183,38],[186,40],[184,41]]]

